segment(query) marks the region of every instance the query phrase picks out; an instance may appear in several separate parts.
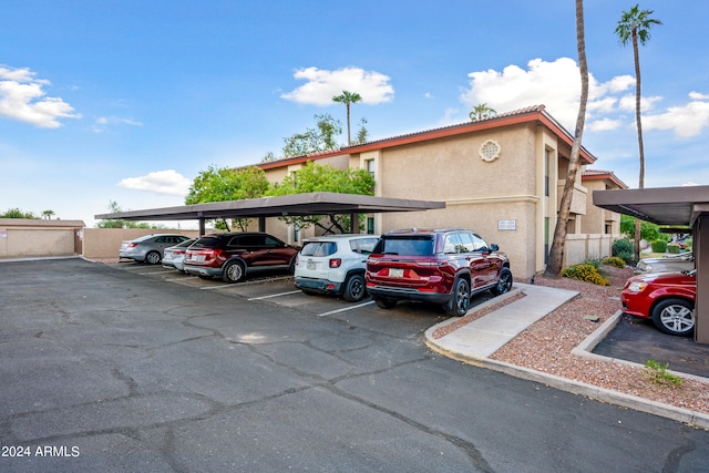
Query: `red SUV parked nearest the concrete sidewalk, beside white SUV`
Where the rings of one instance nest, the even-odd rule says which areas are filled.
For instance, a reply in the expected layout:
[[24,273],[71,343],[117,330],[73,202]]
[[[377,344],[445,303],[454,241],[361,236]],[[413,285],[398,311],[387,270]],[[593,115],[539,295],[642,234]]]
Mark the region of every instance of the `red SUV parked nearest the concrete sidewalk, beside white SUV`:
[[454,228],[392,230],[367,259],[367,290],[384,309],[397,300],[441,304],[464,316],[472,294],[512,288],[510,260],[474,232]]

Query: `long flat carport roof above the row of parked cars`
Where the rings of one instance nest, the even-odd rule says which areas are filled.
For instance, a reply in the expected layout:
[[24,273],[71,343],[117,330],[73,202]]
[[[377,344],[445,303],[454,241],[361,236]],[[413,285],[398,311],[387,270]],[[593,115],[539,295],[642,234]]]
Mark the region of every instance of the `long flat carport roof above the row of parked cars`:
[[329,214],[369,214],[445,208],[444,202],[374,197],[370,195],[310,193],[280,197],[212,202],[95,215],[96,219],[188,220],[236,217],[282,217]]

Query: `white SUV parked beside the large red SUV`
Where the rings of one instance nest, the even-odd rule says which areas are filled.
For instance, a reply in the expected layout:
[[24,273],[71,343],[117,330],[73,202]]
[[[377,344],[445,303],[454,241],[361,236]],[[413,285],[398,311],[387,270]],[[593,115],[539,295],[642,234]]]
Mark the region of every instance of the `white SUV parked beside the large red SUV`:
[[362,300],[367,256],[378,235],[327,235],[308,238],[296,258],[295,285],[305,294],[341,295],[348,302]]

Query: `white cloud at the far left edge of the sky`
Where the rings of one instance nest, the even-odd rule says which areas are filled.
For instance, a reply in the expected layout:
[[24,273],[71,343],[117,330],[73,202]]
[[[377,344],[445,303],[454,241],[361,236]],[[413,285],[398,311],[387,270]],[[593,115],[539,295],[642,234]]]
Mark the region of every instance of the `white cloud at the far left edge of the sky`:
[[0,65],[0,116],[41,128],[60,127],[59,119],[81,119],[62,99],[45,96],[45,85],[50,82],[37,79],[37,73],[29,69]]

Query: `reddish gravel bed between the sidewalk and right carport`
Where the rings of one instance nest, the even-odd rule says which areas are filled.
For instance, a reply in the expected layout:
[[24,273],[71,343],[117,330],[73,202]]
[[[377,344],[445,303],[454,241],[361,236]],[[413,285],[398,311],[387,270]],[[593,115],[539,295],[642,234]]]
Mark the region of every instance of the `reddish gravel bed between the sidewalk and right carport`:
[[[610,286],[537,275],[536,285],[576,290],[580,296],[532,325],[490,358],[709,414],[709,382],[687,378],[679,387],[661,384],[651,381],[645,369],[572,354],[575,347],[620,308],[620,291],[633,276],[631,268],[603,266],[603,273]],[[600,320],[585,320],[587,315]]]

